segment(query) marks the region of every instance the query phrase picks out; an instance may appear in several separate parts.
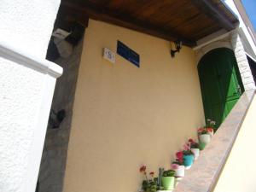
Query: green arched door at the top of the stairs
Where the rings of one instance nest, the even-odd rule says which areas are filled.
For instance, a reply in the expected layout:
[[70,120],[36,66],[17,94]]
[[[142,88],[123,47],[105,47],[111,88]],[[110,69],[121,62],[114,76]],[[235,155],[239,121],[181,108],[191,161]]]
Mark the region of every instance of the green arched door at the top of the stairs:
[[198,73],[205,117],[215,120],[218,128],[243,91],[234,52],[213,49],[201,58]]

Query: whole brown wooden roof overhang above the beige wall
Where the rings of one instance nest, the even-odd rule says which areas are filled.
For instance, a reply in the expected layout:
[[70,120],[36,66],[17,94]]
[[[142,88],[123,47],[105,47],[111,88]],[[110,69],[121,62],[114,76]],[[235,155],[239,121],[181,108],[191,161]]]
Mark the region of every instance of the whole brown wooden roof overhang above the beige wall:
[[221,29],[231,31],[238,19],[221,0],[62,0],[60,15],[102,20],[168,41],[196,41]]

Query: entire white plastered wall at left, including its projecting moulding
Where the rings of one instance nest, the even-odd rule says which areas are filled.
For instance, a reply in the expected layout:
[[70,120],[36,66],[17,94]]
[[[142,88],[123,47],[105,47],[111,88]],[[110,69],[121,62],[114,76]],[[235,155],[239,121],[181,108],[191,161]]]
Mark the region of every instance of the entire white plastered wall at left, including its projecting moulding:
[[60,0],[1,0],[0,191],[34,192],[55,79],[46,61]]

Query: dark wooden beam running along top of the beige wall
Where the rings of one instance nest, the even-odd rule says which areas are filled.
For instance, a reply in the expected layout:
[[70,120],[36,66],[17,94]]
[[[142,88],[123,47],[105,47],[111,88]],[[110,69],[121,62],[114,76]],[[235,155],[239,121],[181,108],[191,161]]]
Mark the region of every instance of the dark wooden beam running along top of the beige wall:
[[99,8],[92,3],[84,2],[79,4],[63,0],[61,2],[61,5],[67,7],[68,9],[73,9],[74,11],[84,13],[84,16],[88,15],[91,19],[94,20],[102,20],[117,26],[129,28],[137,32],[143,32],[158,38],[164,38],[168,41],[180,40],[183,42],[184,45],[187,45],[189,47],[194,47],[196,45],[196,42],[194,40],[181,37],[176,33],[170,32],[169,30],[166,31],[160,29],[159,26],[153,26],[142,20],[136,20],[127,15],[117,15],[111,10],[104,9],[103,7]]

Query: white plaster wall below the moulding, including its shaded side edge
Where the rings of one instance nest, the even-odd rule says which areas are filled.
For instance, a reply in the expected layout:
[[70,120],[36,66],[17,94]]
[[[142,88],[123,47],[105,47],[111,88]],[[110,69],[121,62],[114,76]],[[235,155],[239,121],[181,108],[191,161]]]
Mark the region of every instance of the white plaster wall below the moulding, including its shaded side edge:
[[33,192],[55,78],[0,56],[0,191]]

